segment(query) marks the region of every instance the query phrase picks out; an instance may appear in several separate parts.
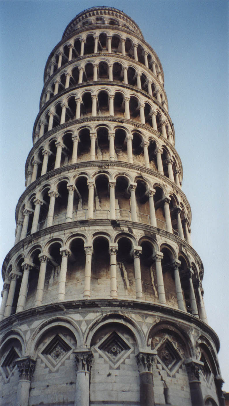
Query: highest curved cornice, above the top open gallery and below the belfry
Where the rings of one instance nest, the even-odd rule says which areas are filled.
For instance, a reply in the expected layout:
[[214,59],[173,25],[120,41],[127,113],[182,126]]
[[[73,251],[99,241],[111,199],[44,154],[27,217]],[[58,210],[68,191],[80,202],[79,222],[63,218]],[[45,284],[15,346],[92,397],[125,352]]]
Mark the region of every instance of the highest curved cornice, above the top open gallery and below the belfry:
[[[71,33],[70,35],[68,35],[65,38],[62,38],[61,41],[59,41],[59,43],[53,48],[52,52],[49,54],[49,57],[47,59],[46,65],[45,65],[45,71],[44,71],[44,83],[45,83],[45,78],[47,75],[47,68],[49,66],[50,60],[53,57],[53,55],[55,54],[56,50],[64,43],[66,43],[69,39],[71,39],[72,37],[77,36],[78,34],[81,34],[81,32],[86,32],[86,31],[98,31],[99,29],[102,30],[112,30],[112,31],[119,31],[119,32],[125,32],[128,35],[132,35],[133,37],[135,37],[136,39],[138,39],[140,41],[140,43],[143,43],[148,50],[150,50],[153,54],[153,56],[155,57],[155,60],[157,61],[157,64],[160,67],[160,71],[161,71],[161,76],[164,80],[164,72],[163,72],[163,68],[161,65],[161,61],[159,60],[159,57],[157,56],[155,50],[151,47],[151,45],[148,44],[148,42],[145,41],[144,38],[138,36],[135,32],[128,30],[127,28],[121,27],[121,26],[108,26],[107,24],[91,24],[89,26],[85,26],[82,28],[78,28],[77,30],[75,30],[73,33]],[[110,54],[111,55],[111,54]],[[133,60],[133,59],[132,59]],[[141,64],[142,66],[142,64]],[[145,66],[145,65],[143,65]]]

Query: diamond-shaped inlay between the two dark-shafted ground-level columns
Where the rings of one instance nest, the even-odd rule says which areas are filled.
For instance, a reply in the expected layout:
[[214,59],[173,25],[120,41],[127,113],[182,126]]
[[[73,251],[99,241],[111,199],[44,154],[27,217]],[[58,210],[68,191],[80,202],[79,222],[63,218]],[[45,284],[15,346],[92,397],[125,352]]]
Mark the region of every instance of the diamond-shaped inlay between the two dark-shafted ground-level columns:
[[170,374],[170,376],[174,375],[180,367],[183,359],[173,343],[168,337],[165,337],[155,350],[157,350],[157,359],[160,361],[164,369]]

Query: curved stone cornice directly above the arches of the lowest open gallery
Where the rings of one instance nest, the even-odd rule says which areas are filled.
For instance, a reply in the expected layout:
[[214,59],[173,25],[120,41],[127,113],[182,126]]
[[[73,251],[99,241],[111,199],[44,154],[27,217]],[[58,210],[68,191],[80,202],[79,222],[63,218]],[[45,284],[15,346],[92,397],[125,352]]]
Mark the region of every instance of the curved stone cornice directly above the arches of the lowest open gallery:
[[[162,237],[169,238],[171,241],[173,241],[176,244],[179,244],[180,247],[184,247],[187,251],[195,257],[197,264],[199,266],[200,274],[201,274],[201,280],[203,279],[204,276],[204,268],[202,261],[197,254],[197,252],[194,250],[194,248],[189,245],[186,241],[182,240],[180,237],[170,233],[169,231],[165,231],[162,229],[159,229],[158,227],[152,227],[146,224],[142,224],[139,222],[133,222],[133,221],[128,221],[128,220],[104,220],[100,219],[100,227],[103,229],[104,227],[109,227],[112,226],[117,227],[130,227],[133,229],[139,229],[144,231],[145,233],[150,233],[150,234],[157,234],[161,235]],[[60,231],[66,231],[66,230],[71,230],[74,229],[76,230],[79,227],[95,227],[98,225],[98,220],[93,219],[93,220],[78,220],[78,221],[72,221],[72,222],[65,222],[65,223],[60,223],[53,225],[51,227],[47,227],[45,229],[39,230],[36,233],[33,233],[31,235],[28,235],[28,237],[23,238],[23,240],[19,241],[11,250],[8,252],[6,255],[3,264],[2,264],[2,279],[5,279],[5,273],[6,273],[6,267],[8,266],[8,262],[10,259],[20,250],[23,250],[25,246],[28,246],[28,244],[32,244],[33,241],[43,238],[46,235],[53,234],[55,232],[60,232]]]

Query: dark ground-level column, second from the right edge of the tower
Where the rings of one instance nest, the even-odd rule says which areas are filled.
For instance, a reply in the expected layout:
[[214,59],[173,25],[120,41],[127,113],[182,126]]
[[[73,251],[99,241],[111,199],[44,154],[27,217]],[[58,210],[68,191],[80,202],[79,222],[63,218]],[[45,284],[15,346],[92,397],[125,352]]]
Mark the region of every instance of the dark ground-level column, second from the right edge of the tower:
[[204,365],[204,363],[197,360],[188,359],[184,361],[184,364],[189,377],[192,406],[204,406],[201,382],[199,380],[199,369]]

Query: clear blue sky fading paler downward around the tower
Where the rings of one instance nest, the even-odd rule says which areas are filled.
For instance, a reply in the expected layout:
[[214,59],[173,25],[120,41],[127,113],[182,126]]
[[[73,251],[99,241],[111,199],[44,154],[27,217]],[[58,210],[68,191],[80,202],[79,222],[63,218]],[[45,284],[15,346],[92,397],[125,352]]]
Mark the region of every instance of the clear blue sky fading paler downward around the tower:
[[[66,25],[95,1],[0,1],[2,263],[14,242],[15,206],[25,186],[46,60]],[[165,75],[182,189],[192,209],[193,247],[204,264],[204,300],[221,341],[229,391],[228,1],[106,0],[132,17]]]

